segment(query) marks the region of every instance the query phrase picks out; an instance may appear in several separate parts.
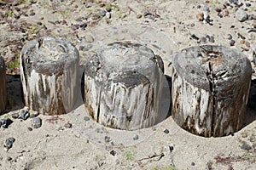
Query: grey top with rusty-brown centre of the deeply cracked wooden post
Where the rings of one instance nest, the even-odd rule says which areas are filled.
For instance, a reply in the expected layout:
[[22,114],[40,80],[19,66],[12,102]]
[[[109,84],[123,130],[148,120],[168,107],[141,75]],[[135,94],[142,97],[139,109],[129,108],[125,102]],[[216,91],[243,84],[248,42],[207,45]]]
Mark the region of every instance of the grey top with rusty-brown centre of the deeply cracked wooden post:
[[[214,75],[218,82],[231,78],[243,81],[252,75],[252,66],[244,54],[223,46],[185,48],[173,60],[173,67],[184,80],[210,92],[208,76]],[[242,75],[242,77],[241,77]],[[218,86],[225,86],[219,83]]]

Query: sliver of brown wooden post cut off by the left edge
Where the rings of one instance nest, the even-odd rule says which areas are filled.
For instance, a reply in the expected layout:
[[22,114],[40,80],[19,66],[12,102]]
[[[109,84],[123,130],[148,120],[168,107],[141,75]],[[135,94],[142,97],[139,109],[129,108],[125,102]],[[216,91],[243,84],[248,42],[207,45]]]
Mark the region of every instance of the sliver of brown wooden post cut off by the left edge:
[[0,56],[0,113],[5,110],[7,103],[6,74],[3,57]]

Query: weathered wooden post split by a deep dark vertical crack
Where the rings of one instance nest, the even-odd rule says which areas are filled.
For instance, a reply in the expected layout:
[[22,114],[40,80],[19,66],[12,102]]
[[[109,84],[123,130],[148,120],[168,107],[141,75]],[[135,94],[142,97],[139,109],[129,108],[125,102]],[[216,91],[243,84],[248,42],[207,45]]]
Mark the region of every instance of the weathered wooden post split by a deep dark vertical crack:
[[185,48],[172,68],[172,116],[180,127],[205,137],[241,129],[252,76],[244,54],[222,46]]

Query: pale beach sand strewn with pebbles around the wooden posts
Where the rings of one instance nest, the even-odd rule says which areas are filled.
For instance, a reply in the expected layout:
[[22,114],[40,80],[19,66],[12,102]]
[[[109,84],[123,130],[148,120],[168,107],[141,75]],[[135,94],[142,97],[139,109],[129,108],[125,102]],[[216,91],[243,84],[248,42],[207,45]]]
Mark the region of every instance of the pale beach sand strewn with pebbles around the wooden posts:
[[[32,118],[21,121],[11,117],[12,113],[26,109],[20,92],[17,60],[24,43],[36,37],[63,37],[73,42],[79,49],[80,72],[85,59],[94,54],[96,48],[118,40],[147,44],[162,57],[165,74],[170,75],[168,65],[179,50],[200,44],[230,47],[228,34],[236,41],[230,48],[246,54],[253,65],[256,34],[248,29],[255,26],[255,20],[236,20],[236,5],[231,4],[233,8],[227,8],[229,15],[220,18],[215,9],[223,8],[228,1],[20,2],[8,6],[12,3],[9,1],[1,5],[0,11],[0,54],[8,65],[9,94],[8,109],[0,119],[9,117],[14,121],[8,128],[0,128],[0,169],[256,168],[256,114],[249,107],[245,126],[234,135],[221,138],[188,133],[173,122],[172,116],[154,127],[136,131],[102,127],[91,118],[84,120],[90,116],[81,96],[73,111],[66,115],[39,115],[42,127],[32,131],[27,128],[32,127]],[[247,8],[247,14],[255,14],[253,0],[241,2],[244,4],[240,8]],[[246,7],[245,3],[251,6]],[[202,13],[202,8],[198,8],[201,4],[209,7],[212,26],[196,18]],[[110,15],[100,16],[98,10],[106,8],[112,8]],[[193,34],[201,41],[193,38]],[[214,42],[210,42],[207,35],[214,37]],[[165,133],[166,129],[169,133]],[[133,139],[135,135],[138,139]],[[15,138],[15,143],[6,151],[3,144],[9,137]]]

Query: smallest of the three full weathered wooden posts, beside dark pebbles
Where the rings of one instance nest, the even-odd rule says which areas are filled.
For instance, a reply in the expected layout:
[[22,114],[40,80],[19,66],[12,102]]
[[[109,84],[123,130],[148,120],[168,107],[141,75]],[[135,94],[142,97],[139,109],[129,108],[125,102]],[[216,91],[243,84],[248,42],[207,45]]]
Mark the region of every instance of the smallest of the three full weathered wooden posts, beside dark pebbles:
[[79,52],[61,38],[27,42],[20,54],[25,105],[44,115],[71,111],[76,101]]

